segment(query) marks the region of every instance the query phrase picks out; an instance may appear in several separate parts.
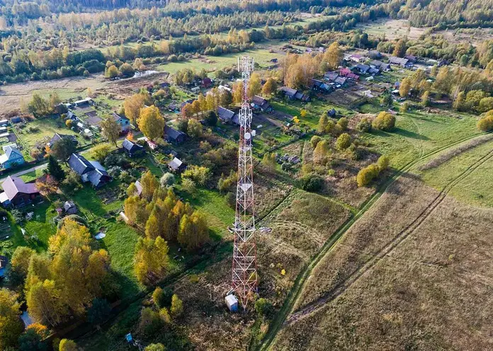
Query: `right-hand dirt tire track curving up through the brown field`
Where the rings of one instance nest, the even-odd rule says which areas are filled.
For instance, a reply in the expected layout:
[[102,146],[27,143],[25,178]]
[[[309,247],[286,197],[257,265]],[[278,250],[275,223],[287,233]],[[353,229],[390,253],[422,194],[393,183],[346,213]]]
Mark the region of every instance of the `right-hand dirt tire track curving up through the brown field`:
[[441,192],[433,199],[433,201],[419,214],[414,221],[412,221],[411,224],[408,224],[402,231],[395,236],[387,245],[385,245],[383,248],[378,251],[375,255],[373,255],[372,258],[367,260],[363,267],[360,269],[356,270],[353,272],[351,275],[349,275],[346,280],[343,282],[339,283],[334,287],[334,289],[331,289],[327,294],[325,294],[324,297],[319,298],[317,301],[312,302],[311,304],[308,304],[305,306],[303,309],[300,309],[299,311],[296,311],[293,313],[286,321],[284,324],[291,324],[303,316],[307,316],[307,314],[310,314],[314,311],[317,311],[318,309],[322,308],[324,304],[327,304],[327,302],[333,301],[337,297],[339,297],[341,294],[343,294],[346,289],[351,287],[356,281],[359,280],[366,272],[371,270],[382,258],[385,258],[385,256],[389,255],[394,251],[394,249],[399,246],[399,243],[402,243],[404,239],[406,239],[409,235],[413,234],[416,229],[421,226],[421,224],[429,217],[431,213],[438,207],[438,205],[441,204],[441,202],[446,198],[448,195],[448,192],[452,190],[452,188],[457,185],[461,180],[466,178],[468,175],[470,175],[473,171],[475,171],[477,168],[482,166],[483,163],[488,161],[489,159],[492,159],[493,157],[493,150],[489,151],[485,156],[482,156],[481,159],[477,160],[475,163],[473,163],[471,166],[469,166],[465,171],[460,173],[456,178],[454,178],[450,183],[448,183],[442,190]]

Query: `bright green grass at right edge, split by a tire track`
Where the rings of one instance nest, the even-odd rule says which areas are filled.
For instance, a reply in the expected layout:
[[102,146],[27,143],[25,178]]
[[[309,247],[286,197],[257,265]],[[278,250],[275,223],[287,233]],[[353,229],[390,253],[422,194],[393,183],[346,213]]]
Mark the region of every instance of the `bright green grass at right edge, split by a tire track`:
[[[493,142],[487,142],[453,157],[428,171],[419,172],[422,179],[441,189],[473,163],[492,150]],[[493,207],[493,160],[489,159],[450,190],[450,195],[472,205]]]

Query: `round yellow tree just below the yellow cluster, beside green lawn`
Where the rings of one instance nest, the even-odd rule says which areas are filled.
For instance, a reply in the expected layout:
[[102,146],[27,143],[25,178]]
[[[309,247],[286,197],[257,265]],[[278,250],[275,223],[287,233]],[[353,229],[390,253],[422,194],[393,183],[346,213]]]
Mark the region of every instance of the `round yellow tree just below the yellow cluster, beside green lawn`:
[[169,269],[168,244],[158,236],[155,240],[139,238],[135,246],[135,275],[143,284],[154,284]]

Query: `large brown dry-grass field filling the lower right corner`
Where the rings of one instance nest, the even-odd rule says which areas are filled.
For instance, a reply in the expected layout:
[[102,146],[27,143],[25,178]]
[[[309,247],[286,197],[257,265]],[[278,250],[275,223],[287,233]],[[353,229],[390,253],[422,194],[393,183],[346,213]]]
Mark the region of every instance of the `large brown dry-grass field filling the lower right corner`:
[[492,215],[446,197],[339,298],[286,326],[273,350],[489,350]]

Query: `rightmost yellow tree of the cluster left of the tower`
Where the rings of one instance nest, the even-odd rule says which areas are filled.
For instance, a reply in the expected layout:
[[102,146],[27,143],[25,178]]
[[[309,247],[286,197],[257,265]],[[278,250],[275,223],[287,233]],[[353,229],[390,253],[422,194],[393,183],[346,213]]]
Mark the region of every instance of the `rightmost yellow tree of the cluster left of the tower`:
[[209,229],[205,216],[197,211],[181,217],[178,241],[188,251],[195,251],[209,241]]

